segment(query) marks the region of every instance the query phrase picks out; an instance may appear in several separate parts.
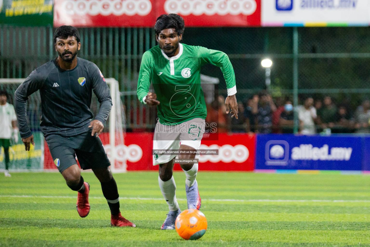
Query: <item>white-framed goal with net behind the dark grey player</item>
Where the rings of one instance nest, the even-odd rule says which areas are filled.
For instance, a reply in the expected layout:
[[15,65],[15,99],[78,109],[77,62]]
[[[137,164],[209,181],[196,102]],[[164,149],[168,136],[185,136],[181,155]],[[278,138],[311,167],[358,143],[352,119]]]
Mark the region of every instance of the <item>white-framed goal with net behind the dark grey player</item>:
[[[8,102],[14,105],[14,92],[25,79],[0,79],[0,90],[6,90],[9,94]],[[103,133],[99,136],[108,158],[111,161],[111,170],[113,172],[126,172],[127,164],[124,145],[124,133],[126,128],[124,107],[118,89],[118,81],[113,78],[105,79],[110,87],[112,97],[112,110],[107,122],[104,124]],[[94,116],[99,112],[100,104],[92,94],[90,109]],[[27,103],[27,121],[34,136],[35,146],[31,145],[30,151],[24,151],[24,144],[19,136],[18,143],[9,148],[10,163],[9,170],[55,170],[57,167],[51,158],[50,151],[43,134],[40,131],[41,118],[41,99],[39,91],[28,97]],[[0,150],[0,170],[5,168],[4,149]]]

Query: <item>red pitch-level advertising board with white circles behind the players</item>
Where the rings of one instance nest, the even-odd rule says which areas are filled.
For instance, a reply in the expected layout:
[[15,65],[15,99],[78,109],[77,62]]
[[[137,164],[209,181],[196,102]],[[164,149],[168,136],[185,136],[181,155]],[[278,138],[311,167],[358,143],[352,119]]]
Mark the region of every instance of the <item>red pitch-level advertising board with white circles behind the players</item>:
[[[100,139],[111,157],[109,133],[102,133]],[[255,135],[219,134],[218,140],[202,141],[200,149],[218,149],[219,155],[201,155],[199,170],[209,171],[252,171],[255,164]],[[115,159],[127,164],[128,171],[158,170],[153,166],[153,133],[126,133],[125,144],[116,145]],[[45,169],[56,169],[50,151],[45,143]],[[117,164],[116,164],[117,167]],[[174,170],[181,170],[175,164]]]

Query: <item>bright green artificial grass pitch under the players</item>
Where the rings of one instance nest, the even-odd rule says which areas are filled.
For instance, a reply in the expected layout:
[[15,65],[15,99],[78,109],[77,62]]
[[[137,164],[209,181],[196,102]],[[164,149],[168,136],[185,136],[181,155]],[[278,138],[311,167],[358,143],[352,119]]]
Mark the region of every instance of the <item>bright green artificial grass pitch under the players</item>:
[[[208,230],[183,240],[159,230],[168,206],[155,172],[114,174],[121,213],[136,224],[111,227],[100,183],[91,211],[78,216],[77,193],[59,173],[0,174],[0,246],[370,246],[370,176],[198,173]],[[186,209],[185,174],[174,173]]]

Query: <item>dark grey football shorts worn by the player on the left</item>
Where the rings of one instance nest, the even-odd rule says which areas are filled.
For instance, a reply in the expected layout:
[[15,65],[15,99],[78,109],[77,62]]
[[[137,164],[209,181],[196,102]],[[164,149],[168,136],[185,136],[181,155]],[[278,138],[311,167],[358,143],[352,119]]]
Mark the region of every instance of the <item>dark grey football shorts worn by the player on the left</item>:
[[91,136],[91,130],[68,137],[50,134],[45,140],[60,173],[77,164],[76,157],[84,170],[101,169],[111,165],[100,138]]

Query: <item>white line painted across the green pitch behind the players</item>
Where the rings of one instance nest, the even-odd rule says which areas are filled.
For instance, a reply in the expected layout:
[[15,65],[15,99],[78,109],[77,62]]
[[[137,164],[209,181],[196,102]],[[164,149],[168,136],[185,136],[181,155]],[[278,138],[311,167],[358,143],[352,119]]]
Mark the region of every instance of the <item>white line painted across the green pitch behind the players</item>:
[[[36,197],[36,198],[77,198],[75,196],[31,196],[31,195],[0,195],[0,197]],[[104,197],[89,197],[93,199],[105,199]],[[120,197],[121,200],[157,200],[163,198],[145,198],[145,197]],[[177,198],[178,201],[186,201],[183,198]],[[327,203],[370,203],[370,200],[268,200],[268,199],[202,199],[202,201],[236,201],[236,202],[327,202]]]

